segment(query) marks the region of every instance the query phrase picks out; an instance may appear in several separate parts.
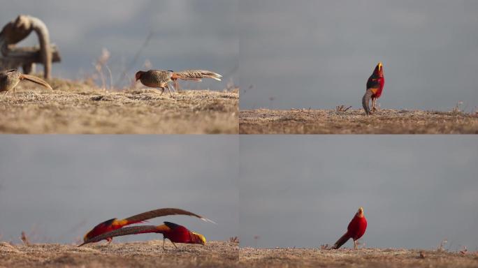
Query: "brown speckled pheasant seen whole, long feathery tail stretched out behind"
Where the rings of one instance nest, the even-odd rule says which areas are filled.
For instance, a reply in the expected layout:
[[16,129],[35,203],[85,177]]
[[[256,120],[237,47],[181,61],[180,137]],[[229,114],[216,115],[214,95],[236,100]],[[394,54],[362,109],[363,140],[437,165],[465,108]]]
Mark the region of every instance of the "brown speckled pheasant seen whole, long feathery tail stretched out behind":
[[169,82],[178,82],[179,80],[189,80],[201,82],[203,78],[212,78],[221,81],[222,75],[213,73],[210,70],[183,70],[182,72],[174,72],[173,70],[140,70],[136,73],[136,81],[140,80],[146,87],[161,88],[161,95],[164,89],[168,89],[169,96],[171,89],[169,89]]

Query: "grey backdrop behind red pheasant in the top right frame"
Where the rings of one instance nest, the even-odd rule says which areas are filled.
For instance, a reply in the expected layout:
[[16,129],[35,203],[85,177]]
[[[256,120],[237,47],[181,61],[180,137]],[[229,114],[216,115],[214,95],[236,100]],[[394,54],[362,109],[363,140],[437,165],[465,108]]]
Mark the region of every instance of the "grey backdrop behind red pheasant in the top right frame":
[[478,1],[244,0],[240,107],[361,107],[384,63],[384,108],[478,105]]

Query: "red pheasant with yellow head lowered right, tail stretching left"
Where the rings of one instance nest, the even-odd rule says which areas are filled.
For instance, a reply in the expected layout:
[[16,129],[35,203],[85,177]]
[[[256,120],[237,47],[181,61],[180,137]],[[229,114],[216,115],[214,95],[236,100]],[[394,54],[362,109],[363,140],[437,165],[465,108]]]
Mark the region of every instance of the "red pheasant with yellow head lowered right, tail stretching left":
[[129,234],[146,234],[146,233],[163,234],[163,249],[164,249],[164,241],[166,240],[166,238],[173,243],[175,248],[178,248],[175,245],[175,243],[205,245],[205,242],[206,242],[203,234],[191,232],[184,226],[165,221],[163,225],[158,225],[158,226],[154,226],[154,225],[133,226],[133,227],[121,228],[111,232],[106,232],[99,236],[92,237],[91,239],[85,240],[83,244],[81,244],[80,246],[101,241],[103,239],[108,239],[110,237],[121,237],[121,236],[129,235]]

